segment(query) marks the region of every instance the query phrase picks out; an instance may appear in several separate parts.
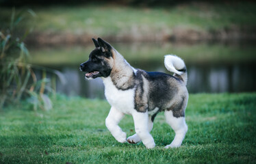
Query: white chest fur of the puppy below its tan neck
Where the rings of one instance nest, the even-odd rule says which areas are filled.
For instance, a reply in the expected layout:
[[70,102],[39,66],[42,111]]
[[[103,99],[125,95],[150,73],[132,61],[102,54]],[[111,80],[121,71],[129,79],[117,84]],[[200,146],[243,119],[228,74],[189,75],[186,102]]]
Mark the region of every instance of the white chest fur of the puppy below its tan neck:
[[134,88],[130,90],[118,90],[110,77],[103,78],[105,85],[105,97],[112,107],[126,114],[131,114],[134,109]]

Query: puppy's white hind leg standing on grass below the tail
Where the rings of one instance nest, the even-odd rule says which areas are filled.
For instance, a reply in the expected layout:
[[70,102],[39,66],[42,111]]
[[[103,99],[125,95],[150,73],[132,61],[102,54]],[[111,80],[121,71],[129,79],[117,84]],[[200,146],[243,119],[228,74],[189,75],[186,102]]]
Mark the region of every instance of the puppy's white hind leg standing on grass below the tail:
[[178,148],[185,137],[185,133],[188,131],[188,126],[185,124],[185,117],[175,118],[172,111],[165,111],[166,122],[175,131],[175,139],[173,139],[170,145],[165,148]]

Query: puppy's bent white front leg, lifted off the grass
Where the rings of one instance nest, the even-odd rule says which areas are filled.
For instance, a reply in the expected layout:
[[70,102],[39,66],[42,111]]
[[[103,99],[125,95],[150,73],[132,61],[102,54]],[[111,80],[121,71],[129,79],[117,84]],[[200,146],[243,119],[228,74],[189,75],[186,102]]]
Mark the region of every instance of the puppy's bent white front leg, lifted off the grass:
[[118,123],[120,122],[120,120],[122,120],[123,116],[124,116],[124,113],[118,111],[114,107],[111,107],[110,113],[107,115],[107,118],[105,120],[107,129],[110,131],[113,137],[118,142],[121,142],[121,143],[126,142],[126,133],[122,131],[120,126],[118,126]]

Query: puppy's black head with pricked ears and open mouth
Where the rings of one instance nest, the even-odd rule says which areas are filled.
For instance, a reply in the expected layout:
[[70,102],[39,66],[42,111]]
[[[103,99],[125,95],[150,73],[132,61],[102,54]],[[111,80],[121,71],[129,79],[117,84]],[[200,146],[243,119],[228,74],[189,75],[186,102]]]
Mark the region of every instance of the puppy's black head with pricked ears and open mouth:
[[88,61],[80,64],[80,70],[86,72],[86,79],[108,77],[113,68],[114,49],[101,38],[92,38],[92,41],[95,49],[90,53]]

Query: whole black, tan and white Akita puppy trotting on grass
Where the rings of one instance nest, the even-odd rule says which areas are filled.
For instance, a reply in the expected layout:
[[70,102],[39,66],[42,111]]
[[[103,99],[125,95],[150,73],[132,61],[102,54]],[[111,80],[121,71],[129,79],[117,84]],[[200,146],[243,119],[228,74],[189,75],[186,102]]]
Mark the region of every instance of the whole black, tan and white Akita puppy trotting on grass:
[[[154,148],[150,132],[157,113],[164,111],[166,122],[175,131],[175,139],[165,148],[177,148],[188,131],[185,108],[188,103],[187,70],[184,61],[175,55],[166,55],[164,65],[173,75],[146,72],[130,66],[116,49],[101,38],[92,39],[95,49],[88,61],[80,65],[86,79],[101,77],[105,97],[111,105],[105,124],[114,138],[125,143],[142,141],[146,148]],[[132,115],[136,134],[126,136],[118,123],[125,114]]]

